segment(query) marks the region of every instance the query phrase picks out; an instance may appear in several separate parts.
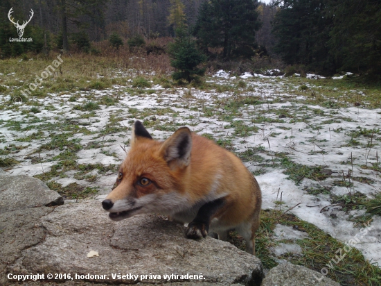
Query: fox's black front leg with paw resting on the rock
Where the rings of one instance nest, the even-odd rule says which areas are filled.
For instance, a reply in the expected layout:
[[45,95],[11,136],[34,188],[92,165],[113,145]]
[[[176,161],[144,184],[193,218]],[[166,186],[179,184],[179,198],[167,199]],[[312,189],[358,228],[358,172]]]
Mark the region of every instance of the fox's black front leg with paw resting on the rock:
[[202,205],[193,221],[188,224],[185,235],[188,238],[206,237],[209,225],[215,214],[225,205],[225,199],[216,199]]

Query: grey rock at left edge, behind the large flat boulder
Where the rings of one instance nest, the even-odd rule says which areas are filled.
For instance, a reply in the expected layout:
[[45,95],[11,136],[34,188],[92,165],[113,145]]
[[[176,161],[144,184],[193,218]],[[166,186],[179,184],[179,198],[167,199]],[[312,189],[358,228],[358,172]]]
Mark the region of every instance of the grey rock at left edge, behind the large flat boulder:
[[62,196],[50,190],[42,180],[0,173],[0,213],[63,203]]

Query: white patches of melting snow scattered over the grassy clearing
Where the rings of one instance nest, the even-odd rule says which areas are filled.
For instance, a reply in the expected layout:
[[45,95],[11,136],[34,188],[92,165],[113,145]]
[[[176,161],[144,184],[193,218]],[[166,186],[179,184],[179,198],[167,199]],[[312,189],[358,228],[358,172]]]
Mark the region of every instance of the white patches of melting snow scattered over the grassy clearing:
[[[258,77],[266,79],[260,80]],[[172,92],[155,85],[150,89],[155,90],[153,94],[143,93],[133,96],[125,91],[125,87],[114,85],[109,90],[81,92],[80,98],[76,102],[70,102],[69,98],[78,94],[78,92],[62,95],[48,94],[45,99],[33,99],[45,106],[45,108],[39,108],[41,111],[39,113],[31,113],[31,107],[24,103],[15,104],[17,109],[12,108],[1,111],[0,149],[4,149],[10,144],[25,147],[18,153],[12,154],[20,161],[20,164],[9,168],[8,171],[14,175],[28,174],[34,176],[49,171],[51,166],[57,163],[52,158],[63,151],[59,149],[40,151],[39,155],[44,161],[42,163],[33,162],[30,156],[35,156],[39,146],[51,140],[51,134],[44,131],[45,137],[40,140],[31,140],[30,142],[18,140],[36,133],[39,124],[47,124],[48,122],[57,124],[57,122],[63,120],[76,120],[73,125],[87,128],[88,131],[93,133],[90,135],[78,133],[68,140],[79,140],[78,144],[82,146],[98,142],[97,146],[86,147],[76,153],[78,164],[102,163],[103,165],[118,165],[123,160],[125,151],[121,146],[125,146],[125,142],[130,138],[130,126],[136,119],[135,117],[139,117],[139,119],[144,117],[143,120],[150,123],[155,120],[163,127],[172,126],[173,124],[177,126],[187,125],[197,133],[213,135],[215,140],[231,140],[236,152],[247,151],[247,149],[258,146],[265,148],[267,153],[260,153],[260,156],[269,160],[267,164],[269,167],[263,167],[260,162],[255,160],[245,163],[251,171],[263,170],[265,173],[256,176],[263,191],[263,208],[279,208],[274,201],[279,201],[282,194],[282,201],[285,203],[281,206],[283,211],[300,203],[290,212],[316,225],[342,242],[348,242],[360,233],[360,228],[355,226],[352,221],[349,221],[348,217],[351,214],[355,216],[362,215],[363,211],[343,212],[337,206],[332,205],[329,194],[314,195],[308,193],[307,190],[312,187],[333,185],[334,181],[341,176],[342,171],[347,173],[348,169],[351,169],[351,158],[353,158],[355,168],[352,176],[362,176],[373,181],[371,184],[354,181],[355,191],[361,192],[368,197],[380,192],[380,174],[370,169],[360,169],[362,165],[370,166],[376,162],[375,151],[380,145],[375,145],[373,149],[367,148],[365,152],[365,147],[361,146],[366,146],[369,138],[356,138],[360,142],[360,146],[351,146],[348,142],[351,140],[351,132],[360,130],[357,128],[358,126],[367,129],[380,128],[381,109],[312,106],[303,103],[306,96],[294,94],[293,90],[297,90],[298,87],[289,87],[286,80],[285,82],[278,82],[274,76],[254,74],[253,77],[249,73],[242,74],[240,80],[245,81],[251,89],[249,92],[242,92],[242,95],[258,96],[258,99],[263,101],[263,104],[242,106],[239,110],[242,115],[230,121],[224,121],[224,110],[216,102],[221,99],[233,98],[233,92],[218,93],[215,90],[202,91],[180,87],[177,87],[175,92]],[[234,77],[230,77],[230,73],[223,70],[214,74],[212,78],[209,78],[209,81],[231,86],[236,83]],[[361,94],[361,92],[354,91],[357,94]],[[118,99],[120,99],[116,105],[101,106],[100,110],[94,110],[94,114],[90,117],[82,118],[82,115],[87,115],[89,112],[73,109],[78,103],[85,103],[88,96],[101,99],[103,96],[114,96],[114,94],[118,94]],[[9,101],[9,99],[8,94],[0,94],[0,104]],[[276,103],[272,103],[274,100],[277,100]],[[170,108],[175,113],[156,114],[154,119],[152,119],[152,114],[144,115],[147,110],[154,110],[154,108]],[[205,110],[208,108],[213,111],[220,111],[221,116],[206,115]],[[132,114],[130,109],[137,110],[136,115]],[[283,111],[285,114],[288,112],[288,115],[280,117]],[[99,137],[98,133],[109,124],[111,115],[121,117],[118,126],[125,127],[124,131]],[[258,116],[263,117],[262,121],[255,123],[254,119]],[[303,118],[304,120],[302,120]],[[30,120],[37,119],[41,119],[42,122],[29,123]],[[271,123],[272,120],[273,123]],[[29,130],[27,133],[26,131],[17,131],[17,128],[12,128],[12,121],[21,121],[21,128],[33,126],[33,130]],[[242,124],[246,126],[255,126],[255,128],[258,128],[258,132],[235,135],[236,128],[231,126],[232,121],[242,121]],[[148,128],[156,139],[164,139],[172,134],[172,131],[163,131],[163,129],[165,130],[165,128],[156,130]],[[380,142],[380,140],[380,135],[375,134],[373,136],[373,143]],[[288,158],[299,164],[326,166],[325,168],[328,171],[336,175],[319,183],[315,180],[302,178],[299,182],[300,185],[296,185],[293,180],[289,179],[289,176],[283,174],[283,169],[271,167],[274,152],[287,153]],[[378,155],[380,156],[380,152],[378,152]],[[77,182],[81,185],[97,186],[99,187],[100,196],[107,194],[111,190],[115,180],[115,174],[112,174],[112,172],[98,174],[98,180],[94,183],[89,183],[86,180],[76,180],[74,174],[75,172],[68,171],[65,173],[67,178],[58,177],[52,180],[57,180],[62,185]],[[345,195],[348,194],[348,189],[335,185],[330,192]],[[359,238],[360,242],[355,247],[362,251],[366,259],[381,264],[380,216],[373,216],[371,226],[373,228],[366,235]],[[286,226],[276,226],[275,233],[279,239],[306,238],[305,233]],[[296,246],[287,246],[287,248],[290,248],[290,252],[297,251]]]

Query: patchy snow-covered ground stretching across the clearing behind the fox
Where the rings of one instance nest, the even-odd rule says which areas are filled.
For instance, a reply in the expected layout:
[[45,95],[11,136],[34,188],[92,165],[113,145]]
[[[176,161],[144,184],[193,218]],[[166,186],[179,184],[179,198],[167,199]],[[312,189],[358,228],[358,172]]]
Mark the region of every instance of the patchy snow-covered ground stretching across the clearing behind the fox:
[[[312,87],[317,83],[312,79],[323,77],[308,74],[308,78]],[[236,87],[238,81],[245,81],[247,87]],[[103,198],[111,190],[118,165],[128,151],[136,119],[143,121],[157,140],[167,138],[180,126],[189,126],[238,155],[257,150],[256,157],[245,165],[257,174],[264,209],[279,208],[275,202],[282,197],[281,210],[294,207],[289,212],[342,242],[360,233],[360,225],[351,218],[361,217],[364,210],[345,212],[342,205],[332,203],[332,196],[362,194],[372,198],[380,192],[380,172],[371,168],[380,162],[380,109],[312,105],[305,102],[307,94],[296,93],[299,86],[278,76],[245,73],[236,79],[220,70],[207,82],[233,90],[171,90],[155,85],[134,93],[131,88],[114,85],[108,90],[48,94],[44,99],[30,98],[28,103],[15,104],[8,104],[9,94],[0,94],[0,151],[10,150],[8,154],[19,160],[18,165],[6,170],[13,175],[44,174],[70,151],[78,165],[115,167],[86,174],[96,176],[96,180],[82,178],[80,170],[69,169],[49,181],[62,187],[70,183],[97,187]],[[353,93],[361,95],[362,91]],[[73,96],[75,101],[71,101]],[[103,102],[106,97],[114,103],[107,105]],[[86,107],[91,102],[98,107]],[[33,107],[38,112],[33,112]],[[70,142],[69,146],[57,142],[64,140]],[[278,154],[305,167],[323,166],[321,172],[326,176],[290,180],[290,174],[285,174],[279,164]],[[355,247],[366,259],[381,264],[379,216],[373,216],[371,226]],[[275,233],[284,237],[281,239],[292,239],[286,238],[292,235],[304,238],[299,230],[284,226],[277,226]],[[287,251],[298,253],[299,249],[291,244]]]

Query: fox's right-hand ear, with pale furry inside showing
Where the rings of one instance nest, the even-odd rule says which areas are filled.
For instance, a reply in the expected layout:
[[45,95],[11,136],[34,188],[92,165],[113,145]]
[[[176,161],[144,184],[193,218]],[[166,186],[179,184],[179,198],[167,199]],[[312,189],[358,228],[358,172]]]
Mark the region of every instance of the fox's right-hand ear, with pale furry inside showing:
[[160,148],[160,153],[170,167],[186,167],[190,163],[192,133],[188,127],[181,127],[172,134]]

